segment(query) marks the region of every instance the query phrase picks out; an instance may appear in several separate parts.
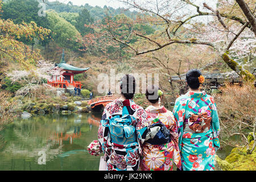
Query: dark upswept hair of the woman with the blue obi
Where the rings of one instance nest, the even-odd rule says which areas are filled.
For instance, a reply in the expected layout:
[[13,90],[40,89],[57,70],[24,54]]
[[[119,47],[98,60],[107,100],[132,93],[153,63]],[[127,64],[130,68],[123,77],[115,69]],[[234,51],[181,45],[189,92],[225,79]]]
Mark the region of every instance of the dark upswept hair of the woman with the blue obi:
[[120,80],[121,94],[125,96],[126,99],[131,99],[134,97],[136,82],[132,75],[124,75]]

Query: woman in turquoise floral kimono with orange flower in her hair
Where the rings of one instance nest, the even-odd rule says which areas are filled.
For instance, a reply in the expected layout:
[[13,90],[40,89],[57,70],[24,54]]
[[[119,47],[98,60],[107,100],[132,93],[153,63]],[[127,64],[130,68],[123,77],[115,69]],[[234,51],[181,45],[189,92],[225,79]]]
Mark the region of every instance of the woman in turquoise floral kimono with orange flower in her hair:
[[186,74],[189,91],[177,98],[174,117],[184,171],[213,171],[214,155],[220,147],[220,123],[212,96],[200,91],[204,77],[197,69]]

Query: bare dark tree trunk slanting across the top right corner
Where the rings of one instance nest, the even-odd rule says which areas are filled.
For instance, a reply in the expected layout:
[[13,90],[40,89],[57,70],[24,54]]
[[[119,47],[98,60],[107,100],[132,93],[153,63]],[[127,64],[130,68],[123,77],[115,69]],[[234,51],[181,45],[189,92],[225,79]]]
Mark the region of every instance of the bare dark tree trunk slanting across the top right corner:
[[249,7],[243,0],[236,0],[240,8],[242,9],[243,13],[245,14],[246,18],[249,20],[251,24],[251,29],[254,32],[254,35],[256,36],[256,19],[254,18],[254,15],[251,13]]

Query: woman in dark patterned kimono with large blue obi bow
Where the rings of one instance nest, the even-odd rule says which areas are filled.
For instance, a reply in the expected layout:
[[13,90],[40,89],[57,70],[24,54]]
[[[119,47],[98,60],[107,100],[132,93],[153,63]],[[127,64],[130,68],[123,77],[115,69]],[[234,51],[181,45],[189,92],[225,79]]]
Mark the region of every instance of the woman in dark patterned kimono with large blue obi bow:
[[98,141],[108,171],[137,171],[141,145],[148,131],[147,113],[133,101],[135,78],[125,75],[120,81],[121,97],[106,105]]

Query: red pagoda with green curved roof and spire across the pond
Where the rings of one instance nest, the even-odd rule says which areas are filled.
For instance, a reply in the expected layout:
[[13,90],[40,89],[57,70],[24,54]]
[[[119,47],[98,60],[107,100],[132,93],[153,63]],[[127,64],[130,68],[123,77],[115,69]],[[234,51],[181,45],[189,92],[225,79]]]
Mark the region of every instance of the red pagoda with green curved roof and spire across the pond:
[[77,68],[70,64],[67,64],[64,59],[64,50],[62,53],[60,64],[57,67],[64,70],[63,75],[52,76],[52,81],[47,80],[47,84],[57,87],[57,88],[68,88],[69,86],[77,87],[81,89],[81,82],[74,81],[74,75],[84,73],[90,68]]

